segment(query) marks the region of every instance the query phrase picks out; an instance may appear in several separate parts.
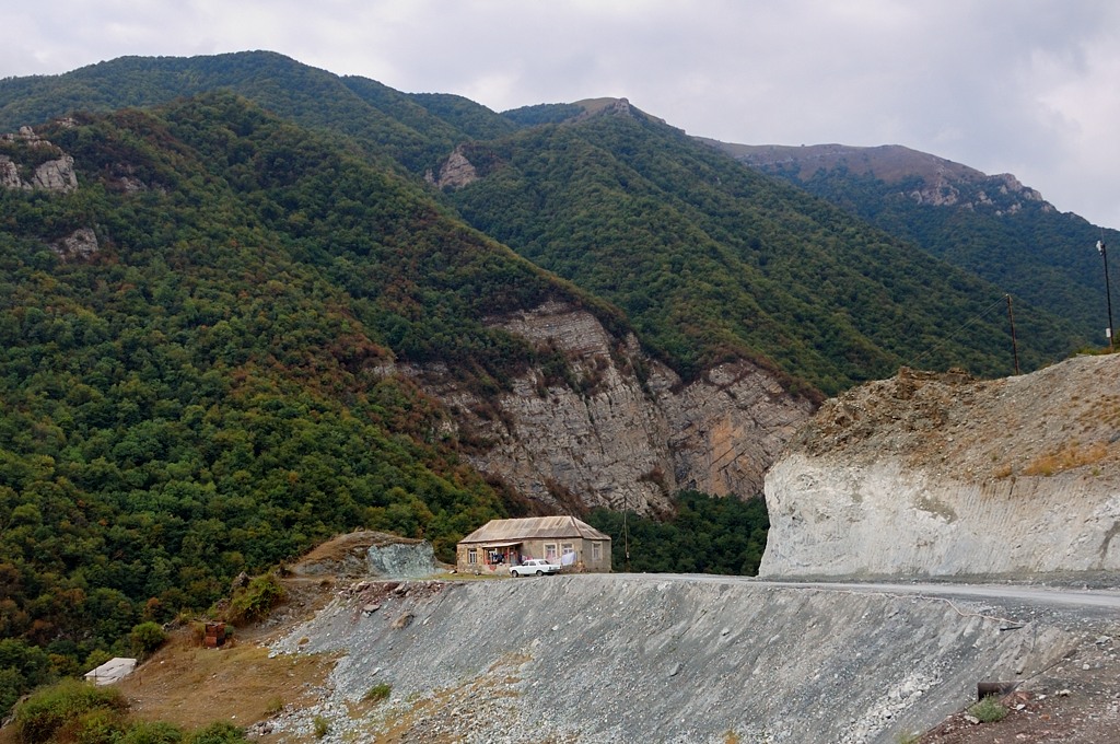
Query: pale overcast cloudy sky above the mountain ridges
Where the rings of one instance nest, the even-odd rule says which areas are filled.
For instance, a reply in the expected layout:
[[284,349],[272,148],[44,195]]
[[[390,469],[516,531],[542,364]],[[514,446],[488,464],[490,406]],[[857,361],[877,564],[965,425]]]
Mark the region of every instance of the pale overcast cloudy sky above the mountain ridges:
[[0,0],[0,77],[268,49],[495,111],[627,97],[727,142],[1011,173],[1120,227],[1116,0]]

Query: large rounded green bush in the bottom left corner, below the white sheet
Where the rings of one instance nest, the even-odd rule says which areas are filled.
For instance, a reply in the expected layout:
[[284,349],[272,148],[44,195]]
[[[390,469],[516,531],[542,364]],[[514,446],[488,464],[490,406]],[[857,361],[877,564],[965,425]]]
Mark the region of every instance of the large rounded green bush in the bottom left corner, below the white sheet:
[[[63,727],[73,727],[81,741],[92,743],[97,741],[93,738],[93,733],[104,729],[109,720],[127,707],[124,696],[115,688],[65,679],[34,692],[16,708],[16,734],[24,744],[43,744]],[[103,715],[83,719],[94,712],[102,712]]]

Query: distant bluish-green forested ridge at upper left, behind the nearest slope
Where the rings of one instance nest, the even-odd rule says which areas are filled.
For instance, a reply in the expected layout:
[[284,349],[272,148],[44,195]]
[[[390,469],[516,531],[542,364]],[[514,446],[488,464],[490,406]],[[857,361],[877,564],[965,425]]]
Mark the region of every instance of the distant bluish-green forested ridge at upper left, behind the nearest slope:
[[457,141],[512,127],[466,99],[409,96],[371,80],[339,77],[279,54],[251,52],[121,57],[65,75],[6,78],[0,81],[0,131],[72,111],[152,106],[216,90],[248,97],[296,123],[345,134],[367,155],[382,156],[381,165],[416,171],[435,165]]

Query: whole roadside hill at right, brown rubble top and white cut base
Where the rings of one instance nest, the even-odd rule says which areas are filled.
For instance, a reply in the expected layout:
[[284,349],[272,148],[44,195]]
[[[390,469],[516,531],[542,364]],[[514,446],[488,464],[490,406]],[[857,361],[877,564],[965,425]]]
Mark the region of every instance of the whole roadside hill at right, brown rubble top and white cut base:
[[828,401],[766,477],[760,575],[1120,568],[1120,356]]

